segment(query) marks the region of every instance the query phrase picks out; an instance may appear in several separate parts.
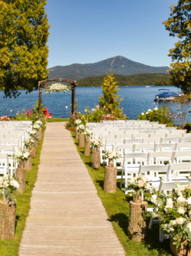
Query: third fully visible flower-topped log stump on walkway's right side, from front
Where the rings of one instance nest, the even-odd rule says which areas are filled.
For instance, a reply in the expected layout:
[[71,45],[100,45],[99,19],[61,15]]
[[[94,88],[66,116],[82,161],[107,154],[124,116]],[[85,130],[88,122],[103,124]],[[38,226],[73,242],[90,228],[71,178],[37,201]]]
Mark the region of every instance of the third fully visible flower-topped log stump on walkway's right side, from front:
[[103,141],[101,138],[91,140],[92,150],[92,168],[98,170],[100,168],[100,150],[99,148],[103,146]]

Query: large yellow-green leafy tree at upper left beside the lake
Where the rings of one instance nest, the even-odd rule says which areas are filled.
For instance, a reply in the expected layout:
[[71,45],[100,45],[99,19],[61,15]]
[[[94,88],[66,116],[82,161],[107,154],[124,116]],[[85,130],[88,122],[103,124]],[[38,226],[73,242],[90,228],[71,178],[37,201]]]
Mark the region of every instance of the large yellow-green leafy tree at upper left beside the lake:
[[47,77],[48,20],[46,0],[0,0],[0,89],[18,96]]

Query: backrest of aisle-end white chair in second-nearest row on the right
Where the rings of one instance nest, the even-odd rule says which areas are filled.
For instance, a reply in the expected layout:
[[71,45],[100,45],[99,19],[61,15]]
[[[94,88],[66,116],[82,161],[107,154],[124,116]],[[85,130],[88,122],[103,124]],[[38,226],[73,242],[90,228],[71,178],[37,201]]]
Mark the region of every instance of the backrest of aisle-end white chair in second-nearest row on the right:
[[138,174],[144,174],[145,176],[149,176],[150,180],[154,177],[163,177],[166,180],[166,174],[168,171],[168,165],[162,164],[154,164],[154,165],[141,165],[139,167]]

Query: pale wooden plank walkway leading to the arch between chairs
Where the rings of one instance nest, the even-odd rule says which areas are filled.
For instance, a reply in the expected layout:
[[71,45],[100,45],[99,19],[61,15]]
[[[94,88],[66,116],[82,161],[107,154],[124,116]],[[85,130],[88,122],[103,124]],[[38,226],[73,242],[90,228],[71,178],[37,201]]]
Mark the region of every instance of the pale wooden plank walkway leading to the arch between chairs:
[[47,123],[19,256],[125,256],[64,123]]

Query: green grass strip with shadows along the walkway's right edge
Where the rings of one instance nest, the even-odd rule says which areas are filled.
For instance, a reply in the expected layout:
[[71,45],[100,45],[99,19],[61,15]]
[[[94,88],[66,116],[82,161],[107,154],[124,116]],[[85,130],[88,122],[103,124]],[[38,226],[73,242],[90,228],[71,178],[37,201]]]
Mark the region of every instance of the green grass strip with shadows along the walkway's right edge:
[[144,242],[134,242],[127,236],[129,201],[132,197],[126,195],[119,188],[120,181],[117,182],[116,193],[106,193],[103,191],[105,168],[101,166],[99,170],[91,168],[91,156],[84,156],[84,148],[79,148],[75,133],[71,132],[76,148],[85,163],[85,166],[96,185],[98,196],[108,214],[108,220],[112,222],[116,234],[124,246],[126,256],[170,256],[170,240],[159,242],[159,224],[153,224],[152,230],[147,230],[147,238]]

